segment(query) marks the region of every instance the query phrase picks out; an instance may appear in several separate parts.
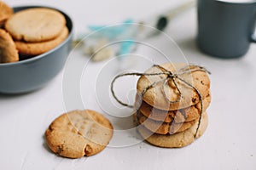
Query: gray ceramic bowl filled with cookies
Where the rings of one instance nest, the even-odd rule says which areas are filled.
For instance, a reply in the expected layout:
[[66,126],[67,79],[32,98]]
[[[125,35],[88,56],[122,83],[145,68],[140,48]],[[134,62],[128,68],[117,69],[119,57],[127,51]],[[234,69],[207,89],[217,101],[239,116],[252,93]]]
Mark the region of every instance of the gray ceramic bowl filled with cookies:
[[[15,7],[14,10],[17,12],[26,8],[37,7],[43,6],[22,6]],[[60,11],[59,9],[56,10]],[[0,94],[22,94],[42,88],[61,71],[71,50],[73,22],[67,14],[60,12],[64,14],[67,20],[69,30],[67,39],[47,53],[31,59],[0,64]]]

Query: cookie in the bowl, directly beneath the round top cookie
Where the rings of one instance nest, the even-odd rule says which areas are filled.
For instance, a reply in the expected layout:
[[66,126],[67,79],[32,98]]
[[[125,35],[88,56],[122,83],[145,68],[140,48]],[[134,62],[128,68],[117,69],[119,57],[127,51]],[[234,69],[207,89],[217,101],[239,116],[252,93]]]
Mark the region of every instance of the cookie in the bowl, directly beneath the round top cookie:
[[20,54],[23,55],[38,55],[44,54],[52,48],[55,48],[61,42],[63,42],[68,36],[67,26],[61,31],[61,34],[55,39],[45,42],[21,42],[15,41],[16,48]]

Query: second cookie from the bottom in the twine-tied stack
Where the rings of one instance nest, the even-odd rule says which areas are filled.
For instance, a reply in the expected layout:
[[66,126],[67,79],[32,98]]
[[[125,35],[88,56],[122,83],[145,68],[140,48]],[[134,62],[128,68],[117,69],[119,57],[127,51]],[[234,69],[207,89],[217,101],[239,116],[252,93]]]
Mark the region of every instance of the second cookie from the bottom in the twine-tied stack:
[[173,134],[173,133],[180,133],[188,128],[192,127],[196,120],[190,121],[190,122],[182,122],[182,123],[176,123],[176,122],[159,122],[154,121],[150,118],[147,118],[146,116],[143,116],[139,111],[137,112],[137,119],[138,123],[142,124],[144,127],[148,128],[153,133],[158,134]]

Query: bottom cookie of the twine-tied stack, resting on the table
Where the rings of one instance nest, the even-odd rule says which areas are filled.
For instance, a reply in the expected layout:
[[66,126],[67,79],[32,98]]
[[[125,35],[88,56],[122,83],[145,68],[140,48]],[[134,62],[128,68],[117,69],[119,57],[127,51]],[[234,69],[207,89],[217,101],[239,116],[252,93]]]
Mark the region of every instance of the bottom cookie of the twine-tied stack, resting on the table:
[[137,131],[149,144],[164,148],[181,148],[183,146],[193,143],[195,139],[201,137],[201,135],[206,131],[207,125],[208,117],[207,113],[204,113],[196,136],[195,133],[198,127],[198,122],[196,122],[192,127],[181,133],[175,133],[171,135],[152,133],[143,126],[138,126]]

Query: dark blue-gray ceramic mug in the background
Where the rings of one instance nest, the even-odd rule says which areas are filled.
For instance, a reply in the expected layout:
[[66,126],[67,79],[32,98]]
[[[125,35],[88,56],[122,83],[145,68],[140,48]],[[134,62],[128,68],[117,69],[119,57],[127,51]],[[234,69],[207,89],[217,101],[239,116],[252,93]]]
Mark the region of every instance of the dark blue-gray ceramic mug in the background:
[[198,0],[197,12],[197,43],[204,53],[237,58],[256,42],[256,0]]

